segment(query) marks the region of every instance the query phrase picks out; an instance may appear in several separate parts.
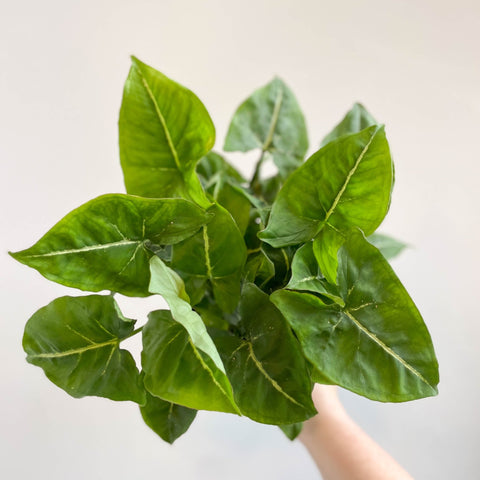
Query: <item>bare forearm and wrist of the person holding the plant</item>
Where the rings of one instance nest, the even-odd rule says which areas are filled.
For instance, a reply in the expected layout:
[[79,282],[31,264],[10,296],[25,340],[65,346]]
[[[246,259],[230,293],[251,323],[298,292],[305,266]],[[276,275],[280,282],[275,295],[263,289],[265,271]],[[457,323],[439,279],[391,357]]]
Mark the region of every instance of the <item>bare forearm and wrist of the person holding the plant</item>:
[[348,416],[337,387],[315,385],[312,398],[319,413],[298,438],[324,480],[413,480]]

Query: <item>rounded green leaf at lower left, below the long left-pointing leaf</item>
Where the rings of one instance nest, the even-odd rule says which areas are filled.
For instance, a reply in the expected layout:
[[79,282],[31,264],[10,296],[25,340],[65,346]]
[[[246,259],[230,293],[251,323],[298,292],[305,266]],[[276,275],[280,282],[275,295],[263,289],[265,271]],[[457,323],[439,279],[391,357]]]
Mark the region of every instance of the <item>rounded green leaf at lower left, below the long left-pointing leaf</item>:
[[72,397],[145,402],[132,355],[119,348],[135,321],[123,317],[111,296],[61,297],[28,320],[27,361]]

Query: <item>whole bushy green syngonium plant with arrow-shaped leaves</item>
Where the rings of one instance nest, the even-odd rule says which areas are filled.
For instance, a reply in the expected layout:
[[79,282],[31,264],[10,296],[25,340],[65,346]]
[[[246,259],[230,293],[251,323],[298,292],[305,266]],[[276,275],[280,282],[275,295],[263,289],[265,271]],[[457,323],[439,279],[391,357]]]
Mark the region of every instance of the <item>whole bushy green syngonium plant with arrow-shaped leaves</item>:
[[[133,58],[119,120],[127,194],[69,213],[12,256],[49,280],[111,294],[57,298],[27,322],[28,362],[73,397],[130,400],[164,440],[197,410],[245,415],[290,438],[315,415],[315,382],[382,402],[435,395],[427,328],[374,234],[393,164],[359,104],[306,161],[307,131],[278,78],[233,116],[225,151],[258,150],[250,182],[211,151],[188,89]],[[263,178],[273,160],[278,173]],[[114,294],[160,295],[145,325]],[[143,337],[141,371],[121,343]]]

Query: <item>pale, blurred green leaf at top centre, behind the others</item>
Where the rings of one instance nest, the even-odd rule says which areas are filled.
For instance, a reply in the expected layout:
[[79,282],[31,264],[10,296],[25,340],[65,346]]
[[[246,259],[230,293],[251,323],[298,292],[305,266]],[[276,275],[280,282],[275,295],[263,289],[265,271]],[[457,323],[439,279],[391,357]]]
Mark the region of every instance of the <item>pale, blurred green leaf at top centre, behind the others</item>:
[[259,148],[272,155],[286,177],[303,161],[308,148],[305,119],[291,90],[279,78],[256,90],[238,107],[224,150]]

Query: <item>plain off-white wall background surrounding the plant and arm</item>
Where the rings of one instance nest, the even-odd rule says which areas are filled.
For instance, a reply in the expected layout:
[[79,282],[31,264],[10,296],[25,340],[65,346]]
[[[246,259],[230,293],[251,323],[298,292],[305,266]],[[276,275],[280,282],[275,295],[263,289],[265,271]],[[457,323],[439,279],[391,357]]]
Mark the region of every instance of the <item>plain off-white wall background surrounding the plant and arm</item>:
[[[440,395],[351,415],[418,479],[478,478],[480,7],[457,0],[43,0],[0,6],[0,477],[315,479],[274,427],[202,412],[171,447],[137,407],[74,400],[28,365],[29,316],[77,291],[17,264],[73,208],[122,192],[117,116],[129,55],[197,93],[221,149],[238,103],[275,74],[305,111],[311,151],[354,101],[386,124],[396,166],[381,230],[431,331]],[[252,162],[234,155],[245,173]],[[122,301],[144,321],[158,300]],[[135,347],[134,347],[135,348]]]

